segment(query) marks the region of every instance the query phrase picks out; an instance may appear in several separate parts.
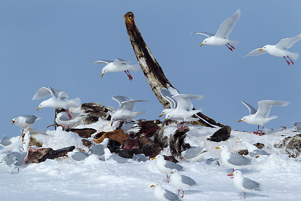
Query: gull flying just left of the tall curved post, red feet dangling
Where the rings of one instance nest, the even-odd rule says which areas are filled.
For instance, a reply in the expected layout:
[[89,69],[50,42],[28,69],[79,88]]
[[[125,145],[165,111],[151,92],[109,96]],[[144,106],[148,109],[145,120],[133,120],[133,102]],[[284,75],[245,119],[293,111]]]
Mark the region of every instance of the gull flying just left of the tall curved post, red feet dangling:
[[124,71],[126,73],[126,75],[128,76],[128,79],[132,80],[133,77],[129,74],[128,70],[139,71],[139,69],[140,69],[140,66],[138,64],[129,65],[130,61],[126,61],[126,60],[119,59],[119,58],[116,58],[115,61],[99,60],[99,61],[95,61],[93,63],[97,63],[97,64],[106,63],[107,64],[106,66],[104,66],[102,68],[101,77],[106,72],[120,72],[120,71]]

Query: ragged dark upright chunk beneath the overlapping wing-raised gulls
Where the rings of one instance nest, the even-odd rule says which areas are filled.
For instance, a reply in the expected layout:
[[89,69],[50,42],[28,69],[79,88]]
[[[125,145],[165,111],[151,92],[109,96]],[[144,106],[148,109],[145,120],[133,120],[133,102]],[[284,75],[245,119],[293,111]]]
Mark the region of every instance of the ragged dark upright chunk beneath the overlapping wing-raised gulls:
[[[171,153],[174,156],[180,156],[181,152],[184,151],[184,148],[182,147],[184,145],[184,139],[186,137],[186,133],[189,131],[189,128],[185,129],[178,129],[174,133],[174,135],[171,135],[170,137],[170,150]],[[185,145],[186,147],[187,145]]]

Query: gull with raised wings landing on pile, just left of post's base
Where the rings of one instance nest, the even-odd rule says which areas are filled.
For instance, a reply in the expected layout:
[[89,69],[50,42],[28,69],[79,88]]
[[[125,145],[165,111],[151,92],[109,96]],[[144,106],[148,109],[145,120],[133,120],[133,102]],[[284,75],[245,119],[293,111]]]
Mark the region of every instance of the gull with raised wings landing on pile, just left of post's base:
[[145,111],[134,112],[136,109],[135,102],[148,102],[148,100],[133,100],[130,97],[116,95],[112,97],[119,103],[119,108],[111,117],[111,126],[115,121],[129,121],[134,117],[145,113]]

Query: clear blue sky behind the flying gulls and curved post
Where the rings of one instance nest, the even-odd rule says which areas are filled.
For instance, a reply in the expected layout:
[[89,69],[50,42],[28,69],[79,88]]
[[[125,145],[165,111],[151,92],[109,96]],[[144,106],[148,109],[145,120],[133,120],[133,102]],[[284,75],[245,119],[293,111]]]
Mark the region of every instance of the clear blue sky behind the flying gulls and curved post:
[[[277,129],[299,117],[300,59],[288,66],[271,55],[242,56],[266,44],[301,33],[300,1],[1,1],[0,3],[0,126],[3,135],[20,135],[13,118],[37,114],[33,128],[53,124],[54,109],[36,111],[42,100],[32,100],[42,86],[79,96],[82,103],[118,107],[111,97],[147,99],[137,103],[140,118],[158,119],[163,107],[142,73],[106,73],[104,65],[90,62],[123,58],[137,63],[123,16],[132,11],[144,41],[170,82],[181,92],[205,95],[193,102],[203,113],[234,130],[254,131],[257,126],[238,123],[248,114],[241,100],[257,108],[264,99],[291,102],[273,107],[278,116],[265,128]],[[234,52],[223,46],[202,46],[202,35],[216,33],[220,24],[238,9],[241,17],[230,34],[240,41]],[[301,53],[301,41],[289,49]]]

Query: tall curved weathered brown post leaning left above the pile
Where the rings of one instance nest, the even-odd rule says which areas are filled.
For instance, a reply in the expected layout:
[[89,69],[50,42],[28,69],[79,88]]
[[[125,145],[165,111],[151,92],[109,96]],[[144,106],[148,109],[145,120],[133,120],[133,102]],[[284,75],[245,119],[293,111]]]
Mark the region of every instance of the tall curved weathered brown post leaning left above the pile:
[[[175,87],[172,86],[172,84],[166,78],[161,66],[145,44],[138,28],[135,25],[134,14],[132,12],[128,12],[124,15],[123,19],[130,43],[142,68],[144,76],[148,84],[150,85],[150,88],[152,88],[153,92],[155,93],[163,107],[170,108],[170,104],[162,97],[160,91],[163,87]],[[212,127],[212,125],[223,127],[222,124],[216,123],[213,119],[203,115],[202,113],[198,113],[198,115],[202,119],[206,120],[209,124],[202,119],[200,119],[200,121],[198,122],[191,122],[191,124],[197,124],[207,127]]]

